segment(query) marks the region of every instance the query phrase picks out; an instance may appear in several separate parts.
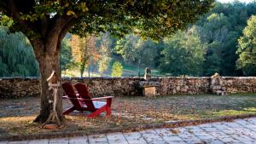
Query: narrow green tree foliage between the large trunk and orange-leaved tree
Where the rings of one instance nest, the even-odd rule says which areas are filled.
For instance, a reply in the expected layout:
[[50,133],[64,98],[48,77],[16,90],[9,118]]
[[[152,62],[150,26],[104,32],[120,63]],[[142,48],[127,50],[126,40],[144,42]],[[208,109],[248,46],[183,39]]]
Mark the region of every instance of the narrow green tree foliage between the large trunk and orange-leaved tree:
[[74,65],[72,49],[68,45],[67,39],[61,43],[61,71],[66,71]]

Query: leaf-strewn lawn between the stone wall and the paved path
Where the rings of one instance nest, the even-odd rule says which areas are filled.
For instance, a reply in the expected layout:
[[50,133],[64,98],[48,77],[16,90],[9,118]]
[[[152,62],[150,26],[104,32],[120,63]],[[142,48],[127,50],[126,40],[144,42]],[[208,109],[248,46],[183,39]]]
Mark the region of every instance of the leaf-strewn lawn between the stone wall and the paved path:
[[[65,108],[72,106],[67,100],[63,103]],[[103,115],[84,118],[80,112],[73,112],[57,130],[44,130],[39,124],[32,123],[39,106],[38,97],[1,100],[0,136],[114,129],[136,124],[256,114],[256,94],[115,97],[112,118]]]

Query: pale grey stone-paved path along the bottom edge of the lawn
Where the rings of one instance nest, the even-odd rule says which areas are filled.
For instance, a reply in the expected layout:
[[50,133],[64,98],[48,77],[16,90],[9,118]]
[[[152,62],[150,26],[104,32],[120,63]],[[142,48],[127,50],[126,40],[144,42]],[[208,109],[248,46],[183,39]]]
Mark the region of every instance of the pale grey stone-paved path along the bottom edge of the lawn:
[[0,141],[0,144],[222,144],[256,143],[256,118],[236,119],[176,129],[143,130],[32,141]]

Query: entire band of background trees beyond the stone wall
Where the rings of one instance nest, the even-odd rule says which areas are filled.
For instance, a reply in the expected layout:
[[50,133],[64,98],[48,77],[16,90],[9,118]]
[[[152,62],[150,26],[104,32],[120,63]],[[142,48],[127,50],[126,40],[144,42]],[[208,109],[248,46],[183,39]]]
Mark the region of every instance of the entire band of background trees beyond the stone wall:
[[[122,64],[157,69],[160,75],[256,76],[256,3],[215,3],[215,7],[186,30],[154,41],[139,34],[113,37],[67,35],[61,43],[61,70],[112,67],[120,76]],[[38,63],[26,37],[0,28],[0,77],[38,76]],[[119,61],[119,62],[117,62]],[[121,71],[120,71],[121,70]]]

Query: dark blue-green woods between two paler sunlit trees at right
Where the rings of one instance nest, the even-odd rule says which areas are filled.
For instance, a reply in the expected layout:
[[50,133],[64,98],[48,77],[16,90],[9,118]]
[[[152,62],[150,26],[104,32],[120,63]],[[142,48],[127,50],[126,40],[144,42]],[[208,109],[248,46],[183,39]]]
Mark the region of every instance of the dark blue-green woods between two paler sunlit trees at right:
[[256,14],[255,9],[255,2],[216,3],[216,7],[196,23],[201,40],[207,46],[204,75],[211,76],[215,72],[224,76],[242,74],[236,69],[237,39],[248,17]]

